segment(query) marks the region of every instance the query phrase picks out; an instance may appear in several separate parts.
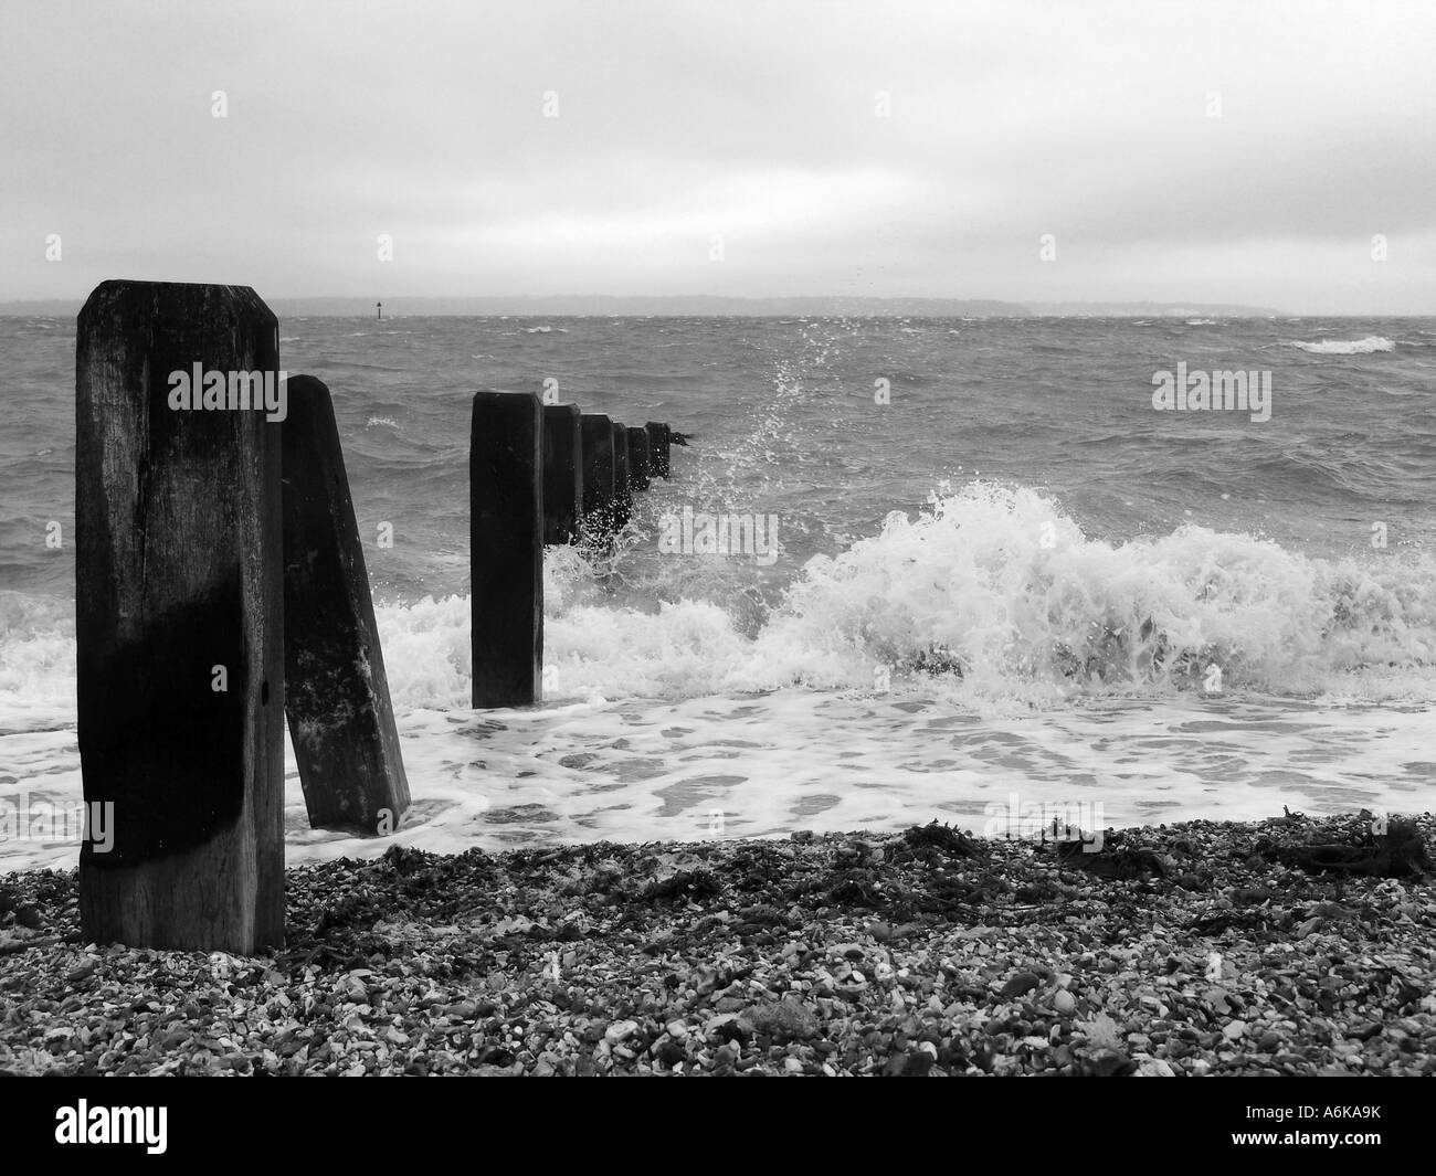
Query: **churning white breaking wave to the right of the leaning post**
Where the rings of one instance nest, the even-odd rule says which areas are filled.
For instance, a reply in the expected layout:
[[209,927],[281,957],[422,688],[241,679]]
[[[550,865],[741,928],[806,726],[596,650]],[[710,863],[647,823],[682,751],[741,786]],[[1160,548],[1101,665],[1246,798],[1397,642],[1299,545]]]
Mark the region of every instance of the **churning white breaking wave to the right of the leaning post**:
[[[617,564],[620,569],[622,564]],[[616,573],[615,573],[616,574]],[[1314,560],[1185,526],[1086,538],[1048,498],[972,484],[836,557],[816,557],[755,619],[717,599],[620,606],[573,550],[546,560],[549,696],[731,698],[892,688],[982,714],[1104,696],[1223,692],[1423,698],[1436,678],[1436,560]],[[692,582],[685,582],[692,587]],[[379,609],[396,702],[452,709],[468,691],[465,597]]]

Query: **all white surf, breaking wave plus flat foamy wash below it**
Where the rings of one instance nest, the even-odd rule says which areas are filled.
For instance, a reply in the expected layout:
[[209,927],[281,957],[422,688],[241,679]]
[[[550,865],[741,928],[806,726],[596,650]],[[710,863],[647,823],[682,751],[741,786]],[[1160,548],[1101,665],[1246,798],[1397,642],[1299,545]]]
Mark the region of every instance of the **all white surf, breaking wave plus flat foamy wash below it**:
[[[979,830],[1014,791],[1114,826],[1429,807],[1429,556],[1313,560],[1200,526],[1110,544],[1035,491],[972,484],[811,560],[760,619],[721,586],[615,603],[622,569],[549,553],[530,709],[470,709],[467,597],[381,606],[414,808],[392,839],[310,830],[290,752],[289,860]],[[80,795],[73,606],[0,593],[0,791],[22,788]],[[0,843],[0,869],[75,857]]]

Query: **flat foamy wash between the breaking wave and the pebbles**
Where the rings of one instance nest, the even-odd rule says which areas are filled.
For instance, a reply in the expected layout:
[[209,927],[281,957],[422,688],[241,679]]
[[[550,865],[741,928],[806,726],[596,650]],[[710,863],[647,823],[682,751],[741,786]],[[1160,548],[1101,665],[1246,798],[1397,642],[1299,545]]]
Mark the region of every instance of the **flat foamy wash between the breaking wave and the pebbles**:
[[[1430,715],[1265,698],[1110,699],[978,718],[906,692],[785,689],[534,709],[398,711],[414,804],[391,837],[313,830],[286,745],[286,860],[597,840],[981,831],[994,811],[1100,807],[1106,826],[1429,807]],[[22,781],[16,784],[16,778]],[[80,798],[70,731],[0,738],[0,791]],[[78,844],[0,840],[0,870],[66,869]]]

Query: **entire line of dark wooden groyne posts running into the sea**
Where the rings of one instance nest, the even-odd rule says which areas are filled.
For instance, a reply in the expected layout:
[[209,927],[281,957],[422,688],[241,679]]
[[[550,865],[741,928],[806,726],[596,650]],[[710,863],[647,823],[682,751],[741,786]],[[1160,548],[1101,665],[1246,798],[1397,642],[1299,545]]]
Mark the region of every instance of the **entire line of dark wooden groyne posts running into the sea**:
[[[99,943],[283,942],[286,718],[312,826],[382,834],[409,806],[329,389],[293,376],[273,411],[236,373],[280,383],[279,322],[247,287],[106,281],[80,312],[79,748],[112,831],[82,843],[80,920]],[[672,439],[475,393],[475,706],[540,699],[544,544],[622,527]]]

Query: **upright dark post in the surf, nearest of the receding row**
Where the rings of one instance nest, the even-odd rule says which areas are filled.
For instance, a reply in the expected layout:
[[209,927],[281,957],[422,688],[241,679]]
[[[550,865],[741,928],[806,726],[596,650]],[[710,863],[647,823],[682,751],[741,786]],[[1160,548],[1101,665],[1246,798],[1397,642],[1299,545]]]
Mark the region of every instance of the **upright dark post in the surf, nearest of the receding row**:
[[474,706],[527,706],[543,678],[543,403],[475,392],[468,457]]

